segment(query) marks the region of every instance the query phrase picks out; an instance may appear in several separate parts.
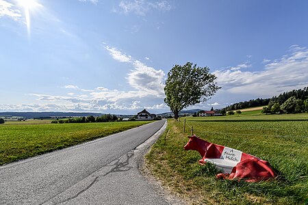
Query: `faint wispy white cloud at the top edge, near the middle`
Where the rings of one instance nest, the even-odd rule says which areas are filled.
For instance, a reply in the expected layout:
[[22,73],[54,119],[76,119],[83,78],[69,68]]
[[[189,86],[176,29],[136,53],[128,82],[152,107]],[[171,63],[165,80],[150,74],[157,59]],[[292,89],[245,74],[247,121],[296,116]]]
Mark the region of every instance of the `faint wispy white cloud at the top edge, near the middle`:
[[133,0],[133,1],[120,1],[119,8],[121,12],[128,14],[134,13],[140,16],[145,16],[146,12],[151,9],[159,11],[171,10],[171,5],[168,1],[146,1],[146,0]]

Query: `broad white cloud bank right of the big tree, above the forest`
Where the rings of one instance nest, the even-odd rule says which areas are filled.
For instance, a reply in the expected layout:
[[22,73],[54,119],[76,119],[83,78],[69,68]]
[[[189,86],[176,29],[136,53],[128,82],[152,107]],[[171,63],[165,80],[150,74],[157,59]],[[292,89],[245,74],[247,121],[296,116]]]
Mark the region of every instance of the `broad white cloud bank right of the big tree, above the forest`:
[[218,85],[233,94],[270,97],[308,85],[308,50],[293,46],[292,52],[265,65],[261,71],[215,71]]

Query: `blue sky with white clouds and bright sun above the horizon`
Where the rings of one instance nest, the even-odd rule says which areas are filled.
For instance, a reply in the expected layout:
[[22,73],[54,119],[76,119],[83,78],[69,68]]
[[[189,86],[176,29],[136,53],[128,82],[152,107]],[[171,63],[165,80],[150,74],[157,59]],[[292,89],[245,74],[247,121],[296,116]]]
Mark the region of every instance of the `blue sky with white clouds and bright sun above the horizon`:
[[308,86],[308,1],[0,0],[0,111],[170,111],[174,65],[219,109]]

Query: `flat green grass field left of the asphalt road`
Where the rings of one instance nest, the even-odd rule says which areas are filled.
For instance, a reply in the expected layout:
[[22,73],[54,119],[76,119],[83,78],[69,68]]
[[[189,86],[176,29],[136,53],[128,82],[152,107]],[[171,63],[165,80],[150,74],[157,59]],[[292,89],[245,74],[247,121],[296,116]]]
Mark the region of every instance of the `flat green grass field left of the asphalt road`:
[[50,122],[29,120],[0,124],[0,165],[149,123],[149,121],[81,124],[51,124]]

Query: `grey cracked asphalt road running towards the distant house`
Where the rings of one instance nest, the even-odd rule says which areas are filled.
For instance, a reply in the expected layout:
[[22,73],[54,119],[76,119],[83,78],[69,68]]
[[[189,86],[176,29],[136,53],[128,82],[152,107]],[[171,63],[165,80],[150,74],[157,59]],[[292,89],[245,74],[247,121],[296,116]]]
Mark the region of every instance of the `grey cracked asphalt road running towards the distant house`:
[[164,122],[0,167],[0,204],[168,204],[136,158]]

